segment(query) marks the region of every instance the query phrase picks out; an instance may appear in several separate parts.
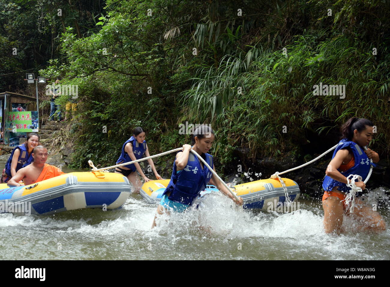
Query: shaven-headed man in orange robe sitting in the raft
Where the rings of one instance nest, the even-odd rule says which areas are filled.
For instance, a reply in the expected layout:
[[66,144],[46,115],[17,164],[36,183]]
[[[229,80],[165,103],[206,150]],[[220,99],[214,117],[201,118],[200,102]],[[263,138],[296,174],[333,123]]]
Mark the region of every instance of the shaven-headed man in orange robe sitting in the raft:
[[[48,165],[46,160],[48,158],[48,150],[43,145],[38,145],[32,152],[34,162],[27,167],[23,167],[8,181],[7,185],[23,186],[33,184],[35,182],[44,181],[58,175],[65,174],[58,167],[54,165]],[[23,180],[23,184],[19,181]]]

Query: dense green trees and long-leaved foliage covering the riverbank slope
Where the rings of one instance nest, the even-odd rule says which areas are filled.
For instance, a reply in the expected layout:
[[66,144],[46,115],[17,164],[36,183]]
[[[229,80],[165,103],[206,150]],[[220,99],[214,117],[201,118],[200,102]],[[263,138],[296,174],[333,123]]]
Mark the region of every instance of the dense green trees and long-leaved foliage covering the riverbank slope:
[[[221,164],[236,147],[248,147],[250,158],[303,156],[308,133],[336,143],[335,129],[354,115],[376,124],[371,147],[389,154],[384,0],[108,0],[89,14],[79,3],[64,19],[56,5],[39,14],[48,23],[42,33],[58,35],[40,74],[78,85],[74,167],[113,164],[136,126],[146,129],[151,154],[180,147],[190,142],[179,135],[186,121],[211,124]],[[315,96],[320,82],[346,85],[345,98]],[[155,162],[170,168],[172,156]]]

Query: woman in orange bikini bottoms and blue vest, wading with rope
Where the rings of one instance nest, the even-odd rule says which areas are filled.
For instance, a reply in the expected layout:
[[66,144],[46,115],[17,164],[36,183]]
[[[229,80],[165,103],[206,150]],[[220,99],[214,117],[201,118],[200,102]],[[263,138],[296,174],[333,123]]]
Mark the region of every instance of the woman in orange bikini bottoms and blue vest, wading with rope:
[[[323,181],[324,195],[322,205],[324,209],[324,230],[326,233],[342,232],[343,213],[346,211],[345,198],[350,188],[346,186],[347,177],[357,174],[364,181],[370,170],[370,159],[379,161],[376,152],[364,147],[372,140],[374,124],[368,119],[353,117],[341,127],[342,140],[333,152],[332,160],[326,169]],[[365,189],[363,181],[356,181],[356,186]],[[353,211],[354,218],[361,224],[358,230],[383,231],[386,229],[385,221],[372,206],[356,197]]]

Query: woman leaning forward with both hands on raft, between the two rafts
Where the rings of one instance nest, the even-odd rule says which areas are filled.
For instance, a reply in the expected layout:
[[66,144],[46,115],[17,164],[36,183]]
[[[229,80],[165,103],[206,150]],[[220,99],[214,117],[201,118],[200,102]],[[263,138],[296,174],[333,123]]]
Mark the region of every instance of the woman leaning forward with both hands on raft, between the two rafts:
[[[146,157],[150,156],[149,149],[145,141],[145,131],[141,127],[137,127],[133,131],[133,136],[131,136],[131,138],[126,140],[126,142],[123,144],[121,156],[117,160],[117,164],[141,159],[144,157],[144,154]],[[149,165],[151,165],[156,179],[163,179],[157,173],[152,159],[148,159],[147,162],[149,163]],[[151,181],[151,179],[148,179],[146,177],[139,163],[132,163],[130,165],[117,167],[115,168],[115,173],[126,176],[135,188],[134,193],[139,193],[140,188],[142,186],[142,182],[138,178],[137,172],[135,172],[136,170],[138,170],[145,182]]]

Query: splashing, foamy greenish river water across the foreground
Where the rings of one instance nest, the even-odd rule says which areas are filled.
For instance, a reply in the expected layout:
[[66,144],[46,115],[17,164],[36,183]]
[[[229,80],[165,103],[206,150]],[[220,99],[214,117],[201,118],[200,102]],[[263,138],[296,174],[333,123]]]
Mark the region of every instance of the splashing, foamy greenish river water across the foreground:
[[[385,190],[376,190],[386,199],[378,211],[389,226]],[[199,210],[161,216],[153,230],[156,206],[147,204],[139,194],[132,194],[122,209],[114,211],[0,214],[0,260],[390,259],[389,228],[380,234],[356,234],[356,222],[344,216],[346,234],[330,236],[323,230],[321,201],[298,201],[300,210],[293,213],[242,211],[232,208],[228,198],[214,193],[202,200]]]

